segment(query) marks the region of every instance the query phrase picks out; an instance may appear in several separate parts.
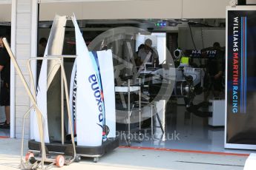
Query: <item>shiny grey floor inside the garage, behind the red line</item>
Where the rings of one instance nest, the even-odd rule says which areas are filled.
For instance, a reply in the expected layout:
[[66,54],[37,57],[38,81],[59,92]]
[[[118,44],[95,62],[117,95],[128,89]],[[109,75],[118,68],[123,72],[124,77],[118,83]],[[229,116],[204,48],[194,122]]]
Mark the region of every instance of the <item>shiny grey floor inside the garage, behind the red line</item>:
[[[161,116],[160,116],[161,117]],[[161,149],[185,149],[203,152],[250,153],[246,150],[224,149],[224,127],[208,125],[207,118],[199,118],[186,112],[186,107],[177,103],[168,103],[165,109],[163,135],[160,128],[143,132],[140,142],[138,134],[133,135],[131,146]],[[119,135],[122,146],[127,146],[125,135]]]

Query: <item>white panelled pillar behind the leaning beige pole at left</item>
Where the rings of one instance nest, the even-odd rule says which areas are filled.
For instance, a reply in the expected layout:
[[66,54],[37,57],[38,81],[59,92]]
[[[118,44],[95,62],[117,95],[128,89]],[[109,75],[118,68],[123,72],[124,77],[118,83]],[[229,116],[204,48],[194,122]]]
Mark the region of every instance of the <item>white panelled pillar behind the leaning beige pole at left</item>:
[[[12,50],[14,50],[14,55],[16,55],[16,60],[19,64],[19,67],[24,74],[24,78],[27,81],[27,84],[30,84],[29,74],[27,70],[27,59],[33,55],[31,49],[34,49],[36,41],[32,41],[33,38],[36,38],[36,33],[33,33],[34,27],[32,27],[32,13],[33,13],[33,4],[34,0],[13,0],[12,8]],[[33,21],[36,23],[36,21]],[[36,50],[36,49],[35,49]],[[27,95],[27,92],[24,89],[21,79],[17,73],[14,74],[14,81],[11,77],[11,116],[15,121],[15,135],[11,130],[11,137],[22,137],[22,118],[30,107],[30,99]],[[14,89],[12,89],[12,85]],[[12,95],[13,93],[13,95]],[[14,106],[12,106],[14,105]],[[25,121],[24,137],[30,137],[30,120],[29,118]],[[11,128],[12,129],[12,128]]]

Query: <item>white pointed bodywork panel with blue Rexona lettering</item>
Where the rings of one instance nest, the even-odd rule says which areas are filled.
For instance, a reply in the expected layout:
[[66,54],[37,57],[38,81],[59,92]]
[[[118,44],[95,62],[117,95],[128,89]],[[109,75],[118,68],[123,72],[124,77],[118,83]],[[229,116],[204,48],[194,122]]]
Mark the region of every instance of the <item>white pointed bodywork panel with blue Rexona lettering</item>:
[[93,54],[88,51],[75,16],[71,18],[76,33],[77,145],[101,146],[105,108],[99,68]]

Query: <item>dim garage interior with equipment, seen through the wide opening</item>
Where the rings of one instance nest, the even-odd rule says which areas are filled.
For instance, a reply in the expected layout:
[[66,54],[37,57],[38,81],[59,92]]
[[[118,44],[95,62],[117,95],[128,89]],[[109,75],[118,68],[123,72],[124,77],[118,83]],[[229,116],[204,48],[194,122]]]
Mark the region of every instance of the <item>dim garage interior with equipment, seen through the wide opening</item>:
[[[40,16],[43,15],[42,11],[40,10]],[[40,16],[38,40],[48,37],[52,24],[52,21],[45,21],[44,17]],[[141,80],[146,86],[144,89],[142,88],[142,101],[147,101],[152,96],[150,100],[154,101],[161,88],[166,90],[165,95],[160,94],[160,96],[157,96],[158,99],[154,101],[164,132],[161,130],[156,116],[152,120],[154,132],[151,132],[152,108],[148,103],[141,106],[142,130],[140,134],[138,131],[140,126],[138,122],[139,109],[136,108],[138,107],[136,101],[139,97],[138,93],[134,92],[130,99],[132,110],[131,141],[128,141],[128,125],[125,123],[125,120],[127,121],[128,95],[116,92],[116,135],[119,136],[120,146],[186,149],[205,152],[238,152],[224,149],[224,74],[222,75],[220,94],[214,97],[211,92],[206,100],[204,98],[207,92],[206,89],[211,86],[209,80],[206,80],[209,79],[209,77],[206,78],[206,69],[210,64],[209,59],[215,57],[219,52],[213,49],[215,42],[220,44],[222,64],[225,66],[226,21],[224,18],[79,19],[78,22],[89,50],[111,49],[116,55],[113,61],[115,86],[127,86],[128,79],[133,79],[134,74],[140,77],[139,69],[135,69],[135,71],[133,69],[136,67],[136,61],[134,62],[134,58],[131,56],[136,55],[138,47],[140,44],[144,44],[147,38],[152,40],[152,47],[158,52],[160,64],[155,68],[150,64],[145,66],[148,67],[148,75],[153,76],[151,74],[155,72],[153,74],[156,74],[156,76],[153,77],[158,76],[155,81],[159,81],[160,76],[157,69],[163,69],[162,65],[167,65],[168,62],[171,64],[171,73],[168,76],[173,76],[172,78],[176,81],[171,82],[167,89],[165,89],[165,85],[154,86],[152,77],[145,80],[142,78]],[[115,31],[119,32],[120,27],[136,27],[140,30],[133,35],[125,33],[116,35]],[[110,35],[111,33],[113,36]],[[90,46],[90,43],[95,39],[100,39],[100,42],[97,42],[97,46]],[[63,54],[75,55],[75,43],[73,24],[72,21],[68,21]],[[90,47],[93,47],[93,49],[90,49]],[[184,56],[189,58],[189,64],[180,64],[180,59]],[[69,72],[67,73],[68,77],[70,77],[70,70],[72,69],[70,66],[72,64],[73,59],[65,60],[66,70],[69,70],[67,71]],[[128,66],[132,66],[132,68]],[[222,71],[225,72],[224,67]],[[165,78],[160,81],[165,81]],[[152,88],[153,95],[148,92],[148,89]],[[185,88],[189,88],[189,92]],[[193,92],[190,91],[191,89],[193,89]],[[166,100],[162,100],[162,98],[166,98]],[[154,108],[153,112],[155,112]],[[216,114],[214,118],[212,118],[213,113]]]

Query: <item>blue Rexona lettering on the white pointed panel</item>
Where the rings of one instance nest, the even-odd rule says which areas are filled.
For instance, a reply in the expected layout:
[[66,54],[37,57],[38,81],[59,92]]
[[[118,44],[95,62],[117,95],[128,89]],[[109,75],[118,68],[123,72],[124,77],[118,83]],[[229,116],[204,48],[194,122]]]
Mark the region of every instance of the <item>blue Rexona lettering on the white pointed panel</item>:
[[99,122],[103,121],[103,106],[102,106],[102,92],[99,89],[99,84],[96,75],[90,75],[88,81],[91,83],[91,89],[93,90],[93,95],[96,99],[98,111],[99,111]]

